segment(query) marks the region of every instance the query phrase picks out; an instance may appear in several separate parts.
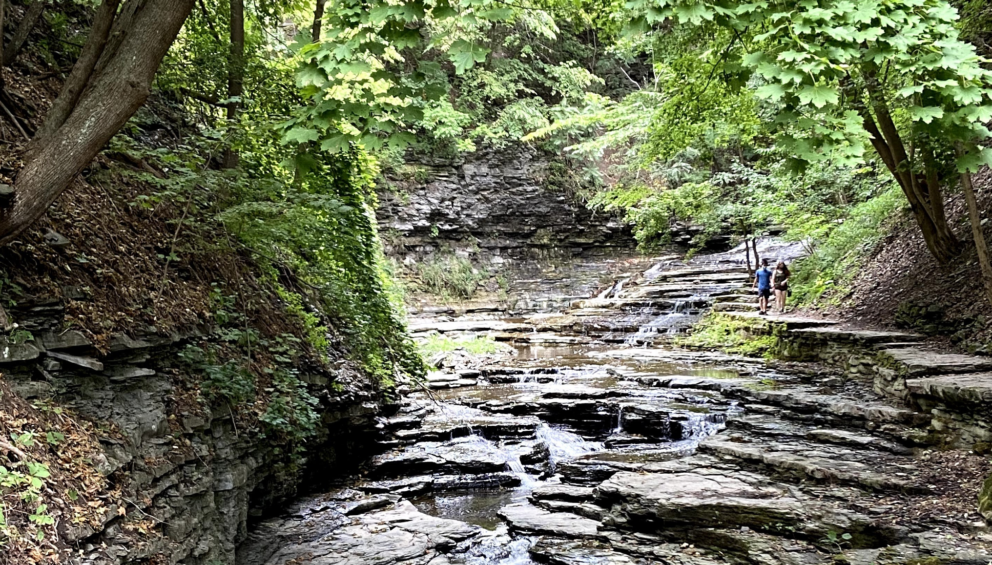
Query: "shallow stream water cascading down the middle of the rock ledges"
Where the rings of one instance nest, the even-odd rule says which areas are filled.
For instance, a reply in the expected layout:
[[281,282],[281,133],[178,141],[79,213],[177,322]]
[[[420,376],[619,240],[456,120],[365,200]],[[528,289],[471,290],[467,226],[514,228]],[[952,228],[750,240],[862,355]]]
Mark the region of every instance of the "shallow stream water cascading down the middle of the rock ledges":
[[[621,277],[589,295],[600,303],[585,314],[599,322],[571,333],[546,328],[543,321],[560,314],[536,315],[533,328],[524,325],[511,336],[512,355],[459,378],[476,384],[442,383],[405,398],[400,413],[384,421],[384,453],[354,488],[400,494],[421,512],[484,528],[448,562],[531,565],[535,537],[511,532],[501,508],[581,515],[578,502],[543,496],[571,489],[589,500],[592,489],[618,471],[692,454],[741,411],[693,383],[744,374],[753,379],[760,369],[663,345],[715,301],[735,300],[745,276],[733,270],[734,260],[705,258],[708,266],[692,272],[683,263],[660,263],[640,279]],[[547,306],[537,294],[527,302]],[[525,320],[501,323],[520,327]],[[673,379],[684,384],[666,384]],[[561,555],[560,562],[570,557]]]

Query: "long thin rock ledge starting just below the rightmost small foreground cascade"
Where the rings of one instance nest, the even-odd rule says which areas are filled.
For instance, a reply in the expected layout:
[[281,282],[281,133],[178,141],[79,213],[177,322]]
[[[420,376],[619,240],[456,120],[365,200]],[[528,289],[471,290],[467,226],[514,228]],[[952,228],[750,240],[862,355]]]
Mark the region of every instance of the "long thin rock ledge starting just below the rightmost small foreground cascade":
[[701,441],[698,449],[768,466],[798,479],[885,492],[929,492],[926,485],[914,480],[916,466],[912,458],[867,448],[855,450],[807,441],[746,443],[740,436],[719,434]]

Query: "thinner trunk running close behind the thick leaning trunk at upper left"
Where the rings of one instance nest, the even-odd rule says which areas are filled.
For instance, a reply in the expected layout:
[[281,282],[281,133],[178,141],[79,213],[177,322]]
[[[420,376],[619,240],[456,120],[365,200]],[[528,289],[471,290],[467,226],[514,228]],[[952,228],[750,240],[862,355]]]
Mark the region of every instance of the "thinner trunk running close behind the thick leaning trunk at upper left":
[[62,91],[59,97],[52,104],[48,113],[45,114],[45,122],[42,127],[35,132],[35,138],[31,141],[33,148],[38,148],[46,143],[52,134],[62,127],[65,118],[72,112],[75,103],[79,100],[79,94],[96,67],[96,61],[103,53],[104,46],[107,45],[107,37],[110,35],[110,27],[114,23],[114,16],[117,15],[117,5],[119,0],[103,0],[100,7],[96,9],[96,16],[93,17],[93,25],[89,29],[89,37],[86,38],[86,45],[82,47],[79,59],[72,66],[65,82],[62,84]]

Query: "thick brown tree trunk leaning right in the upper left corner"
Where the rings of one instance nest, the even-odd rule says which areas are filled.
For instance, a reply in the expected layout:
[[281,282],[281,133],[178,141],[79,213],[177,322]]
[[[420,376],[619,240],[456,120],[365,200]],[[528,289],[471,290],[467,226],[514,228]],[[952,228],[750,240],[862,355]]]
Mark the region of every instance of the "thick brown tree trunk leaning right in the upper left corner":
[[[38,219],[89,165],[148,97],[162,58],[179,34],[193,0],[126,0],[95,72],[51,139],[28,157],[14,182],[14,200],[0,214],[0,245]],[[140,4],[140,6],[138,5]]]

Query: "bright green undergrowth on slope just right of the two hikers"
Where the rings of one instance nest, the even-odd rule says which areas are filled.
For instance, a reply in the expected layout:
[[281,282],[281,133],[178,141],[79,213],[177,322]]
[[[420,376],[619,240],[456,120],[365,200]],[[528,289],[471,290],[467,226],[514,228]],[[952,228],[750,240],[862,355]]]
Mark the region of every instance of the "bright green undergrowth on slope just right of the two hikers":
[[845,285],[887,233],[887,223],[905,208],[898,189],[890,188],[851,208],[841,222],[821,225],[817,229],[819,244],[793,265],[789,279],[792,300],[802,306],[842,299],[847,293]]

